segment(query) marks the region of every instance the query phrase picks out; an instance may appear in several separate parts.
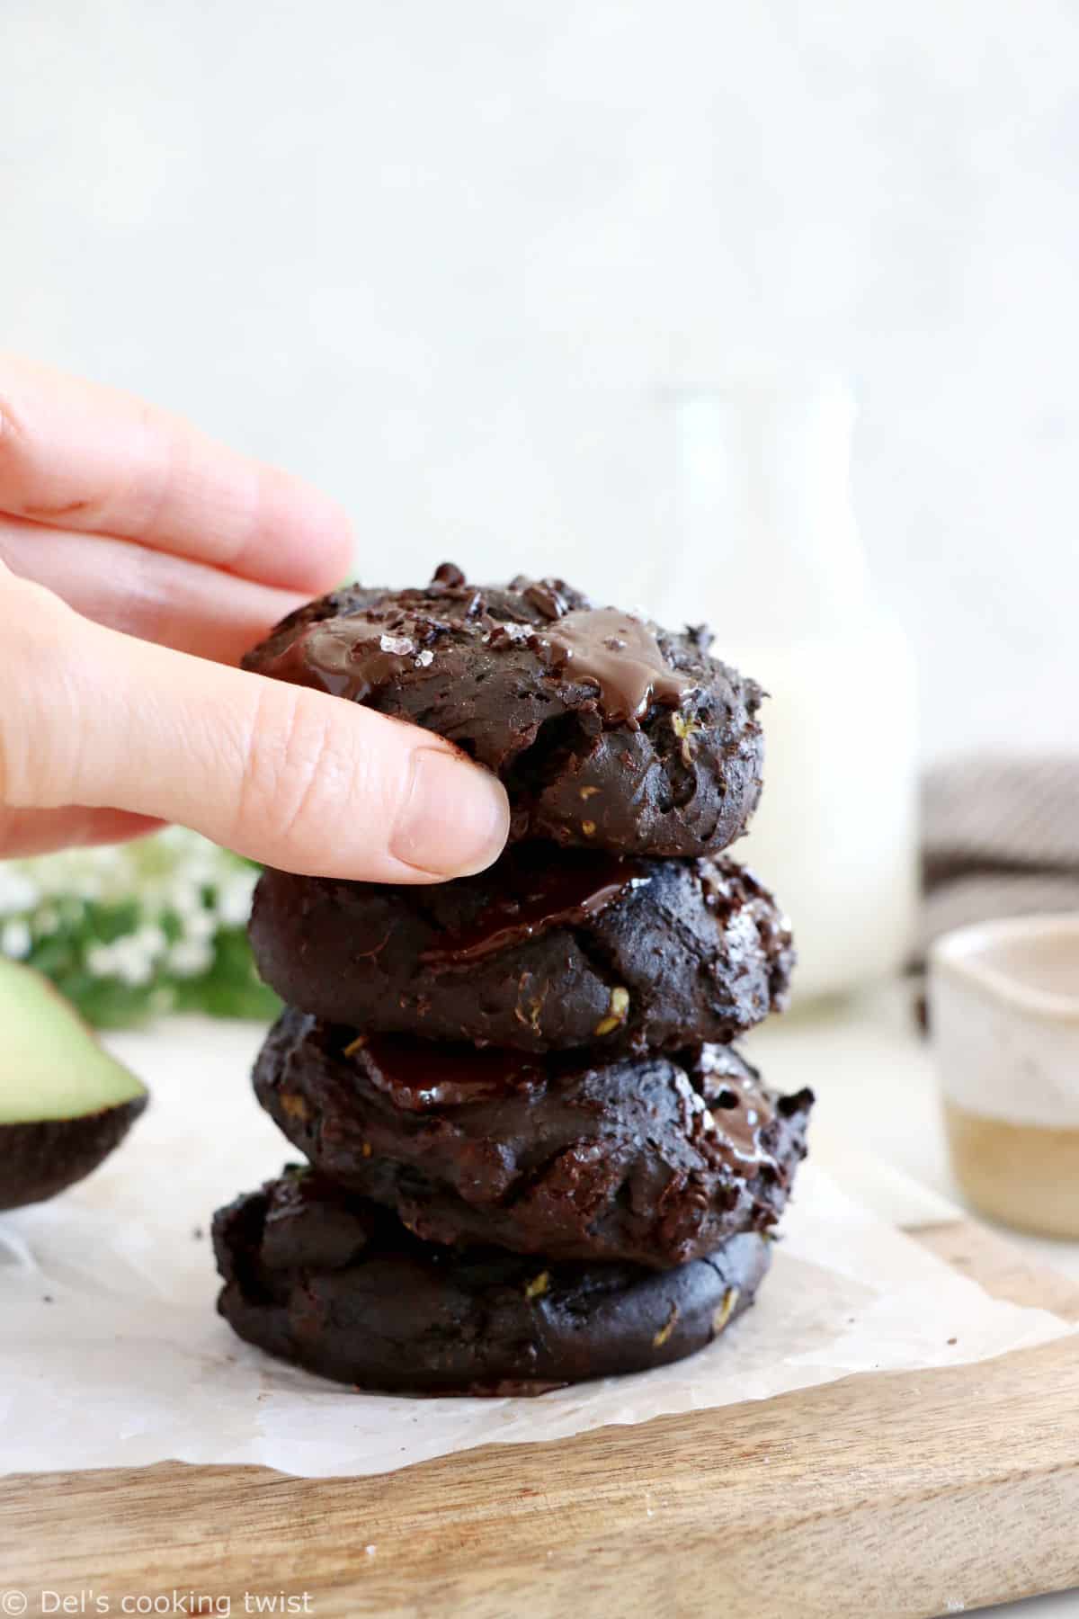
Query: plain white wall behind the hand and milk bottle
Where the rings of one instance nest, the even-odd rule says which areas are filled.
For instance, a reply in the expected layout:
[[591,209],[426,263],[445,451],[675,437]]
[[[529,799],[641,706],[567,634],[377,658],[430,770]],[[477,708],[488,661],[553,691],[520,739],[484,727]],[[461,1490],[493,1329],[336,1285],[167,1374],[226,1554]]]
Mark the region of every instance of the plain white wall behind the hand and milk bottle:
[[925,751],[1068,745],[1077,83],[1066,0],[3,0],[0,342],[319,479],[372,581],[626,602],[663,389],[838,368]]

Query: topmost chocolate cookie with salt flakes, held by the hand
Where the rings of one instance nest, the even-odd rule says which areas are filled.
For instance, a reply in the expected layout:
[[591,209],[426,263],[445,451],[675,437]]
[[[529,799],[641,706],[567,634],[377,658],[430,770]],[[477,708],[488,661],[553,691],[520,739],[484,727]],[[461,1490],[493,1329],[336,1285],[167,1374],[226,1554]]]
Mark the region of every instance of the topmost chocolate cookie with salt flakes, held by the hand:
[[492,769],[513,837],[633,855],[707,855],[760,795],[760,688],[561,580],[424,589],[349,584],[283,618],[244,669],[438,732]]

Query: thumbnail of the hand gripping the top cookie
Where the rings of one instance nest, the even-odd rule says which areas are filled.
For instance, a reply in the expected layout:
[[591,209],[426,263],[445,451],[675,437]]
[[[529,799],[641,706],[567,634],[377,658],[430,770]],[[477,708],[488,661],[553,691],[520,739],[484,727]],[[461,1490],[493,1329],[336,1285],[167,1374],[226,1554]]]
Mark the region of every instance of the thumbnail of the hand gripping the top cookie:
[[510,801],[497,777],[440,748],[413,754],[413,788],[391,855],[440,877],[468,877],[498,858],[508,831]]

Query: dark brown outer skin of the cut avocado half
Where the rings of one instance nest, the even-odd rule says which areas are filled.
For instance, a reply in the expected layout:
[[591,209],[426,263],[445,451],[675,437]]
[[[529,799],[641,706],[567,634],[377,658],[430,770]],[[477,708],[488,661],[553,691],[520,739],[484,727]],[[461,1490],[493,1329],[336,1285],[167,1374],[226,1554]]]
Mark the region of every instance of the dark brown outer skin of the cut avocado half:
[[0,1125],[0,1209],[66,1192],[113,1153],[146,1109],[146,1096],[78,1119]]

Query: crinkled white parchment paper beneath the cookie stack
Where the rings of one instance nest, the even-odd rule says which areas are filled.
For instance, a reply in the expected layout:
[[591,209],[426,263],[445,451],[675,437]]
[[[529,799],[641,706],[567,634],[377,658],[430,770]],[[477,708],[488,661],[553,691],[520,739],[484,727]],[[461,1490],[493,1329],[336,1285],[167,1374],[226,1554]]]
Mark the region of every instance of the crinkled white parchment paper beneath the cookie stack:
[[118,1041],[154,1088],[128,1145],[66,1196],[0,1216],[5,1470],[176,1459],[375,1473],[853,1371],[979,1360],[1068,1331],[990,1300],[809,1162],[757,1305],[691,1360],[539,1399],[401,1399],[325,1383],[241,1344],[214,1310],[210,1214],[290,1158],[246,1083],[257,1039],[193,1022]]

